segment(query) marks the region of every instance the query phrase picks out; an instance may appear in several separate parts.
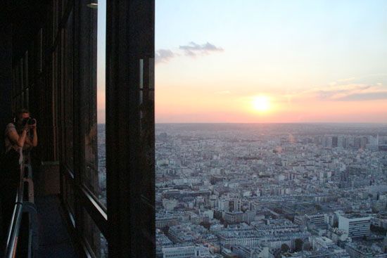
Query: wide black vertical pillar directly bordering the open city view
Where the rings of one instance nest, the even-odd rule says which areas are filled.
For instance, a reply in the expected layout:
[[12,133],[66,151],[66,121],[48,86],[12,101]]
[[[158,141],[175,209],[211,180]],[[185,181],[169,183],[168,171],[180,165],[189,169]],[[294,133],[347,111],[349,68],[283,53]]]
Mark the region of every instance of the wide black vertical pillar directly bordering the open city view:
[[107,3],[109,257],[156,257],[154,11],[154,0]]

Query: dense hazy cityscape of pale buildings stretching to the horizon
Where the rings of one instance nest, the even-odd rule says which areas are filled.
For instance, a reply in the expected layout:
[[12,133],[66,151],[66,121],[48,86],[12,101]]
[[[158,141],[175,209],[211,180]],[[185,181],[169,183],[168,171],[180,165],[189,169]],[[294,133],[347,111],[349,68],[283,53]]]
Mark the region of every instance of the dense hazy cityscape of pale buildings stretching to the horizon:
[[156,124],[157,257],[387,257],[383,124]]

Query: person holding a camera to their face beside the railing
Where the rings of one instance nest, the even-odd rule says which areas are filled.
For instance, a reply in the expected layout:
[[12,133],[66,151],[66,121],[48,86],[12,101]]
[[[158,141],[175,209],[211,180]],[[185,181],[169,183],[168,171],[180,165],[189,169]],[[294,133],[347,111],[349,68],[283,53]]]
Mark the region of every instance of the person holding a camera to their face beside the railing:
[[16,192],[20,183],[20,168],[23,154],[37,146],[37,120],[30,117],[26,109],[16,113],[15,120],[7,124],[5,131],[6,153],[1,162],[1,235],[4,244],[11,222]]

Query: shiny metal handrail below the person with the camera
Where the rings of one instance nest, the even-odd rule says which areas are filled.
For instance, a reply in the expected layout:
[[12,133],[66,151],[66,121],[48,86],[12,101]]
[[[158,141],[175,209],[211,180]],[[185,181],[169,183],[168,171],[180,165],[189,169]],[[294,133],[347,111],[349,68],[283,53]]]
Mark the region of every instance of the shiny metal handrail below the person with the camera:
[[[30,165],[30,157],[27,155],[28,163],[20,165],[20,183],[18,192],[15,198],[15,206],[11,217],[11,224],[8,229],[6,241],[5,258],[14,258],[16,250],[18,250],[18,239],[20,233],[20,225],[22,224],[23,213],[27,212],[30,223],[28,225],[28,246],[27,257],[32,258],[34,250],[37,250],[37,209],[34,205],[34,183],[32,181],[32,166]],[[27,172],[27,173],[26,173]],[[27,200],[25,200],[25,183],[27,183]]]

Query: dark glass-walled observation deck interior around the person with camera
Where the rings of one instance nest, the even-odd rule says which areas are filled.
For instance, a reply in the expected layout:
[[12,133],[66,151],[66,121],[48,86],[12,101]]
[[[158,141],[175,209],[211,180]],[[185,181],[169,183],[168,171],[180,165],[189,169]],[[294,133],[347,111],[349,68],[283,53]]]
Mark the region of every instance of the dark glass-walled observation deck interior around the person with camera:
[[154,12],[154,0],[4,1],[0,128],[25,108],[38,145],[0,257],[156,257]]

